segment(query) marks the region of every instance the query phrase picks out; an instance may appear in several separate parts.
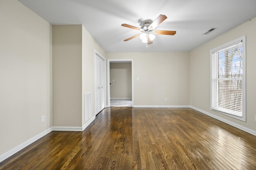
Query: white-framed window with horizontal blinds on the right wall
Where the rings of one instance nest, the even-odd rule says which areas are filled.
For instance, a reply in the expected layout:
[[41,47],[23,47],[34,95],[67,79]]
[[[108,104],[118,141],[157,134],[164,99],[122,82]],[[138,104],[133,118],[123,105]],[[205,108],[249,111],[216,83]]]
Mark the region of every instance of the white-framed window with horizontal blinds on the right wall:
[[211,53],[211,110],[246,121],[246,36]]

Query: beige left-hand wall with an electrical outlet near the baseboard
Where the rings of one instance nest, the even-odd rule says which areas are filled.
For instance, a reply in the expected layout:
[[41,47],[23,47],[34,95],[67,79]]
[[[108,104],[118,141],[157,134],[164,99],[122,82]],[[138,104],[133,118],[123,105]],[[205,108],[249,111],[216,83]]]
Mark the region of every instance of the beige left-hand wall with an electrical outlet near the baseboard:
[[0,1],[0,24],[2,155],[52,127],[52,26],[17,0]]

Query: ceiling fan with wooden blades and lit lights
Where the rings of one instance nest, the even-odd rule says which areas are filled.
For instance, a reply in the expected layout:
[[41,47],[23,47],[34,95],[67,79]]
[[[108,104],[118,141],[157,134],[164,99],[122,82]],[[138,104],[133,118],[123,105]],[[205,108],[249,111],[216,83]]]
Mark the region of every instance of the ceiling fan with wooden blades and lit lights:
[[159,24],[161,24],[164,20],[166,20],[166,18],[167,17],[165,15],[159,15],[156,18],[156,20],[154,20],[152,23],[144,22],[143,26],[140,28],[131,26],[128,24],[122,24],[121,26],[124,26],[127,28],[132,28],[134,30],[139,30],[142,32],[141,34],[137,34],[135,36],[127,38],[124,41],[126,42],[126,41],[132,40],[133,38],[140,36],[140,38],[142,39],[142,42],[146,43],[146,47],[148,47],[149,44],[153,43],[152,40],[155,38],[154,34],[173,36],[174,34],[176,34],[176,31],[154,30],[154,28],[156,28]]

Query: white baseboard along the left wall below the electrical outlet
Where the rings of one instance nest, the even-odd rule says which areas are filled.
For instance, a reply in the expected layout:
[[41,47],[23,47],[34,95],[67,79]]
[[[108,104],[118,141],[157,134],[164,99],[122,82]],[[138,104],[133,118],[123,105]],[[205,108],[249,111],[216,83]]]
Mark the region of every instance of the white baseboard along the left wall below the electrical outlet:
[[12,156],[13,154],[17,153],[18,151],[22,150],[23,148],[25,148],[26,146],[32,144],[33,142],[35,142],[36,140],[42,138],[44,135],[48,134],[52,132],[52,128],[48,128],[47,130],[45,130],[44,132],[30,138],[29,140],[27,140],[26,142],[23,142],[22,144],[19,144],[18,146],[16,146],[15,148],[9,150],[8,152],[2,154],[0,156],[0,162],[2,162],[3,160],[9,158],[10,156]]

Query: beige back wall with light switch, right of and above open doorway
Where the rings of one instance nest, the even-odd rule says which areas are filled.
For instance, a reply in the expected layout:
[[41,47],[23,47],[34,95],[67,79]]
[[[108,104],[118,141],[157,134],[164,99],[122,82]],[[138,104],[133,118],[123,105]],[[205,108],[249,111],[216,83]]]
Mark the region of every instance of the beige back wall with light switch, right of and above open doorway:
[[107,53],[107,58],[134,59],[135,106],[190,105],[189,52]]

